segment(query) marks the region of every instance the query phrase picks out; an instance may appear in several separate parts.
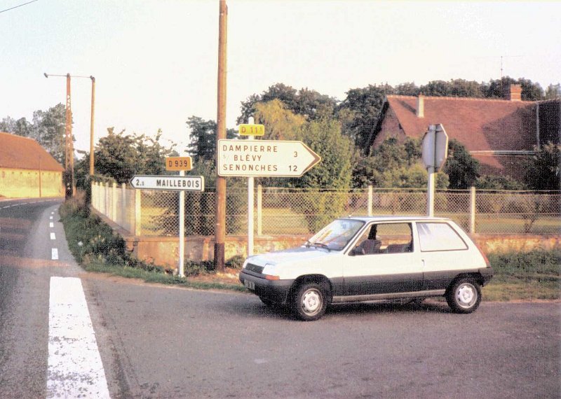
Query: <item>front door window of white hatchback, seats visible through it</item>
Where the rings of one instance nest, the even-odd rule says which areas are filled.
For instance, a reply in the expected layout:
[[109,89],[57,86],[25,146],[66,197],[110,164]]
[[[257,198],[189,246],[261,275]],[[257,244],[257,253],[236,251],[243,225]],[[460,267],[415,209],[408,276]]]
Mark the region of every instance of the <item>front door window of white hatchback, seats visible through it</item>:
[[379,223],[358,239],[353,255],[405,253],[413,251],[411,223]]

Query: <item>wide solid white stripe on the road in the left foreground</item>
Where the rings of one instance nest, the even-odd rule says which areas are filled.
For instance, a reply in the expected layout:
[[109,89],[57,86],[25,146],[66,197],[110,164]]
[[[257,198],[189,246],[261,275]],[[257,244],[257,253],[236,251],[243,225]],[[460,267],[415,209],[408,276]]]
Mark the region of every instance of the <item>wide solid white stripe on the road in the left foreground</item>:
[[50,277],[47,398],[110,398],[82,283]]

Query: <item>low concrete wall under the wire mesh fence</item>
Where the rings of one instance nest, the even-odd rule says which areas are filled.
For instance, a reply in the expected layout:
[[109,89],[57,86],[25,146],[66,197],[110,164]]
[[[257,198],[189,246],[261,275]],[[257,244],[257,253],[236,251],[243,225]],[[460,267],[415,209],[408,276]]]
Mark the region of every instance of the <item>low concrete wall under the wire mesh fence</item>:
[[[94,212],[123,237],[128,250],[133,252],[133,255],[138,259],[177,269],[178,237],[136,237],[130,235],[105,216]],[[255,237],[253,251],[254,253],[264,253],[300,246],[309,237],[309,235],[259,236]],[[528,252],[536,248],[561,248],[561,235],[473,235],[473,240],[485,253]],[[236,255],[245,257],[248,251],[247,244],[247,237],[245,236],[227,236],[224,242],[224,258],[229,260]],[[185,258],[194,262],[212,260],[214,259],[214,245],[214,236],[186,237]]]

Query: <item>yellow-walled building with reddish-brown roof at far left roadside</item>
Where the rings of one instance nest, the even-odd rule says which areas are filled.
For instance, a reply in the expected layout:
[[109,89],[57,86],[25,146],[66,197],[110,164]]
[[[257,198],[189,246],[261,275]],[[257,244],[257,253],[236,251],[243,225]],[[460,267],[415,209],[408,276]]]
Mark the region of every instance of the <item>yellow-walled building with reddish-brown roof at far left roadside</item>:
[[62,172],[35,140],[0,132],[0,197],[63,197]]

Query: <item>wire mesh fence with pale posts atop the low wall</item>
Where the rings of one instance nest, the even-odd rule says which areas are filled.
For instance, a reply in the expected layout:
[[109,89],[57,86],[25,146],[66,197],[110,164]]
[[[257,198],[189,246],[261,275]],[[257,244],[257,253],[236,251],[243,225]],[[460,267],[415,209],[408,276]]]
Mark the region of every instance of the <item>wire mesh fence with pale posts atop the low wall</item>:
[[[215,234],[215,193],[185,193],[185,234]],[[94,183],[97,211],[132,235],[177,236],[179,193],[134,190]],[[229,188],[227,235],[248,234],[248,192]],[[424,190],[312,190],[258,186],[253,204],[256,235],[311,235],[333,218],[348,215],[424,215]],[[561,193],[439,190],[435,216],[451,218],[469,232],[550,235],[561,232]]]

